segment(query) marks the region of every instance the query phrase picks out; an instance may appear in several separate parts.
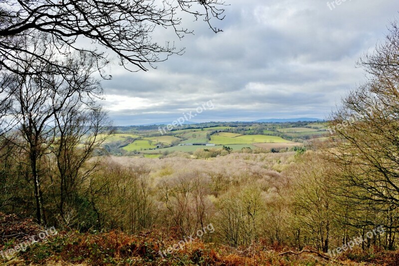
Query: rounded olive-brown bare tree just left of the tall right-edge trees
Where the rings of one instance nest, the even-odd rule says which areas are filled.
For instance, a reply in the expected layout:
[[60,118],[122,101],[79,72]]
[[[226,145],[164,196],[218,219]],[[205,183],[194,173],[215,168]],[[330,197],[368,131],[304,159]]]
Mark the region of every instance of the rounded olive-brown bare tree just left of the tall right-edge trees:
[[[327,252],[336,233],[338,206],[332,192],[331,165],[320,154],[307,152],[290,168],[292,217],[298,246],[313,245]],[[303,244],[303,245],[302,245]]]

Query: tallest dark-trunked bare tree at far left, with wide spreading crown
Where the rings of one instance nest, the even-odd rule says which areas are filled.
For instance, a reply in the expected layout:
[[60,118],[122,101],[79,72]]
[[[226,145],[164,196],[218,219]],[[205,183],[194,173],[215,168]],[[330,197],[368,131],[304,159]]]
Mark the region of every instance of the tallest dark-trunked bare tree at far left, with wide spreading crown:
[[[3,72],[1,85],[5,91],[1,101],[9,101],[3,111],[4,126],[1,136],[13,141],[26,151],[29,157],[34,198],[36,204],[36,218],[44,223],[41,176],[44,174],[40,166],[43,156],[49,152],[49,147],[55,139],[55,114],[59,112],[71,99],[76,97],[80,101],[93,102],[102,93],[99,81],[92,78],[97,70],[93,56],[83,52],[70,54],[68,57],[57,56],[57,49],[45,40],[47,36],[40,35],[34,42],[23,43],[25,49],[40,53],[45,58],[58,58],[60,65],[64,65],[68,72],[59,72],[46,60],[37,60],[31,53],[20,53],[15,62],[17,73]],[[18,130],[24,141],[14,141],[13,134],[8,131]]]

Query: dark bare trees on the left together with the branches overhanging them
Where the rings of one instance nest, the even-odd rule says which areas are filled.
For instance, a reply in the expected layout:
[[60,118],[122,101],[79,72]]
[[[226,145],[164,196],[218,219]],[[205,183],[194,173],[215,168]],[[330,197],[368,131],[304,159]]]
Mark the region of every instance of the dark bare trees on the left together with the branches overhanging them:
[[93,156],[111,133],[98,104],[103,95],[96,77],[112,78],[104,51],[126,69],[147,70],[182,52],[167,40],[153,41],[156,28],[171,28],[179,37],[192,33],[178,26],[177,9],[209,25],[211,17],[224,17],[219,0],[179,3],[10,0],[1,5],[1,211],[34,216],[42,225],[69,225],[75,216],[85,221],[97,166]]

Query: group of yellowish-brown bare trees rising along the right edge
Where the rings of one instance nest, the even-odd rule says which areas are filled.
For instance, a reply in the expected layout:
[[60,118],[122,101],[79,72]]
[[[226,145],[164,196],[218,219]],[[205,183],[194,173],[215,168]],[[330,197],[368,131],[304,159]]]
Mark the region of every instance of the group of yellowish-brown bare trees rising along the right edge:
[[[368,239],[359,244],[363,249],[398,247],[398,43],[394,22],[386,41],[360,59],[368,80],[331,114],[330,141],[291,172],[299,182],[294,201],[298,242],[314,241],[327,252],[360,236]],[[385,233],[375,234],[377,228]]]

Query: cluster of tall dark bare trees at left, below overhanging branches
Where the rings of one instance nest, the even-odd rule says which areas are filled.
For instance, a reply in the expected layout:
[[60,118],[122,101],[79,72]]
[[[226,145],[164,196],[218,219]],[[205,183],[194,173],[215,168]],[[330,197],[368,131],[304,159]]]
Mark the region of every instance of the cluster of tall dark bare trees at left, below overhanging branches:
[[[21,54],[15,71],[0,75],[0,206],[39,224],[58,224],[71,209],[84,216],[79,188],[111,126],[96,101],[102,88],[93,78],[95,58],[83,52],[59,56],[48,38],[32,36],[24,46],[42,60]],[[62,67],[48,63],[57,56]]]

